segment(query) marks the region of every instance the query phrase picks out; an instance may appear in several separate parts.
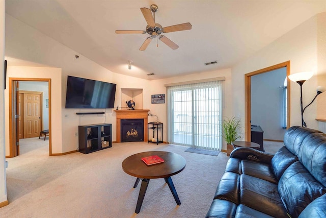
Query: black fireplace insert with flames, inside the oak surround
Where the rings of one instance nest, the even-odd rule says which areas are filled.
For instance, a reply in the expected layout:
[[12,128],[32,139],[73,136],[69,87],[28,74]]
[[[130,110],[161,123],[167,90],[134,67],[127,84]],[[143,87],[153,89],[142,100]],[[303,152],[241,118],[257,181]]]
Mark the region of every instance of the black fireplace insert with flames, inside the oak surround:
[[144,141],[144,119],[121,119],[121,142]]

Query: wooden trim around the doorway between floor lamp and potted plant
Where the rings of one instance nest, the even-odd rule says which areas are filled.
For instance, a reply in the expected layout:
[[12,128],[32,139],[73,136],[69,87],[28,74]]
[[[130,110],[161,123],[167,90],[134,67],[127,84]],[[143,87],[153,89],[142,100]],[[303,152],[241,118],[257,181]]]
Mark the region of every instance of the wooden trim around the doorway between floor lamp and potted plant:
[[287,114],[286,114],[286,128],[290,127],[290,108],[291,108],[291,101],[290,101],[290,61],[286,61],[280,64],[276,64],[273,66],[269,66],[263,69],[259,69],[253,72],[249,72],[248,74],[244,75],[244,139],[246,141],[251,141],[251,77],[259,74],[263,74],[268,71],[276,70],[286,67],[286,80],[287,80]]

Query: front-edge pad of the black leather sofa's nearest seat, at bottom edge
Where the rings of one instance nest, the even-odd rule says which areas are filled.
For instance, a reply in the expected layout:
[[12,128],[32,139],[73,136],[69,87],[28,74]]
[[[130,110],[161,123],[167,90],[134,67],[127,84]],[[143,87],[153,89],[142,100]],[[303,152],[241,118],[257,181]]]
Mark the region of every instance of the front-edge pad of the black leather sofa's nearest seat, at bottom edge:
[[237,205],[233,202],[214,199],[206,214],[206,218],[231,218],[235,216]]

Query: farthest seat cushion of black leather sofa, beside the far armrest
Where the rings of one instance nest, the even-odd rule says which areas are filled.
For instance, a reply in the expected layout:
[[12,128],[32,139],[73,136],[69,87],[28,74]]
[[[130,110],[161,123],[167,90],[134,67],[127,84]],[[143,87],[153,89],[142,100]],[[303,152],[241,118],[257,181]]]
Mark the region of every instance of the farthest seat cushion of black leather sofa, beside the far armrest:
[[249,160],[241,161],[242,174],[253,176],[259,179],[266,180],[271,183],[278,183],[271,168],[266,163],[254,162]]

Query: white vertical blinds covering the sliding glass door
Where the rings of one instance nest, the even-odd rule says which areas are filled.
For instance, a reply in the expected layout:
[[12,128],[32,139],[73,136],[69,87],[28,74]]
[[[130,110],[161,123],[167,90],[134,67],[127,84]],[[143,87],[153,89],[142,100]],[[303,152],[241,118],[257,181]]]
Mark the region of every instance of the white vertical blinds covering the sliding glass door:
[[220,80],[168,87],[170,143],[222,149],[222,83]]

